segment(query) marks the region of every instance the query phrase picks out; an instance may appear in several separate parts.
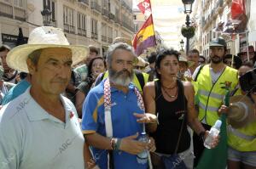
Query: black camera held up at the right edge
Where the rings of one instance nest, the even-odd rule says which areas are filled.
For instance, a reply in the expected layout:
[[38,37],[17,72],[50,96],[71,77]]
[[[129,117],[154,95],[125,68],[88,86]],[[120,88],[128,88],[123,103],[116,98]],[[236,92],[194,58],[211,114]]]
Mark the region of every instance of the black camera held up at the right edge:
[[239,78],[239,82],[242,91],[256,93],[256,68],[247,71],[246,74]]

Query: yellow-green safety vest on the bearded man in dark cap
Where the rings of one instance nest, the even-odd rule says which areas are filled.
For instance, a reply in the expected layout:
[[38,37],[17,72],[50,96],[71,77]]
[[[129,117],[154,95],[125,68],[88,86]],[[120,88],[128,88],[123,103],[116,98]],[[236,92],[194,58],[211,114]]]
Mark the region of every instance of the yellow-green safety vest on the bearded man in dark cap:
[[213,126],[218,120],[218,109],[223,104],[225,89],[221,83],[232,82],[230,90],[234,90],[238,83],[237,70],[226,66],[222,74],[218,77],[217,82],[212,84],[209,65],[205,65],[194,82],[196,98],[198,99],[200,121],[207,125]]

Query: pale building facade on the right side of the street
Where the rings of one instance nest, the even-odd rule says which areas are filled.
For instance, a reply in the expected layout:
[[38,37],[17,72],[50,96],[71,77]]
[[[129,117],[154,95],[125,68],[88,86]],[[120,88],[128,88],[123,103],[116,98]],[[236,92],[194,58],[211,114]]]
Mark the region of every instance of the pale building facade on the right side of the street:
[[[240,32],[239,34],[224,34],[222,31],[218,31],[218,26],[226,24],[230,19],[232,0],[200,0],[201,2],[201,14],[200,20],[198,20],[199,28],[196,30],[196,34],[201,38],[201,54],[208,58],[209,48],[208,43],[216,37],[224,37],[228,45],[229,54],[238,54],[241,48],[247,46],[247,44],[255,45],[256,39],[253,38],[255,34],[255,28],[253,27],[253,15],[250,14],[256,8],[251,5],[251,0],[244,0],[246,6],[246,14],[248,17],[247,31]],[[253,10],[253,9],[254,10]],[[254,17],[255,18],[255,17]],[[252,25],[252,26],[251,26]]]

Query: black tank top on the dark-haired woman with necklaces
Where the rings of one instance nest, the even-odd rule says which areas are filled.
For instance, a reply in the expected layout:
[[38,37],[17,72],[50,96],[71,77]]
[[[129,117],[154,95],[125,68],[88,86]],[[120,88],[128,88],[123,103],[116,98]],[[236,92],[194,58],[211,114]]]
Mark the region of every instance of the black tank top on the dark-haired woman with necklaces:
[[[169,102],[161,92],[160,81],[154,82],[155,107],[158,113],[159,125],[156,132],[152,133],[155,141],[156,152],[172,155],[177,147],[177,139],[182,128],[183,131],[177,153],[189,149],[190,135],[187,129],[187,99],[184,96],[183,83],[177,80],[177,99]],[[183,122],[183,118],[184,122]]]

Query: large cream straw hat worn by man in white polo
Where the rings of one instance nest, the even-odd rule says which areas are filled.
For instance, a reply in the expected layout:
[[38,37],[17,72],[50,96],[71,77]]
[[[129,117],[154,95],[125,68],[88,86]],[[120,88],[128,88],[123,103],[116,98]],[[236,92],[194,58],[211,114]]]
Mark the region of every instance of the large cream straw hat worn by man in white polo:
[[84,45],[70,45],[60,28],[41,26],[32,30],[27,44],[17,46],[9,51],[6,62],[10,68],[28,72],[26,65],[28,55],[42,48],[69,48],[72,51],[73,65],[84,60],[89,51]]

